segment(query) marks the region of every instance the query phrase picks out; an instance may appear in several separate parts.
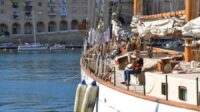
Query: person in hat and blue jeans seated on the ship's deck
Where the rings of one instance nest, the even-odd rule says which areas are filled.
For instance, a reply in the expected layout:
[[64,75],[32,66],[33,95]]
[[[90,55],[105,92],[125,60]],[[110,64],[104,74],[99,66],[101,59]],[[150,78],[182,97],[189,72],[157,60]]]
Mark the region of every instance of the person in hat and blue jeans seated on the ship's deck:
[[140,51],[136,51],[135,56],[131,55],[132,62],[128,65],[127,69],[124,70],[124,82],[121,84],[126,84],[130,86],[130,75],[140,74],[143,66],[143,58],[140,57]]

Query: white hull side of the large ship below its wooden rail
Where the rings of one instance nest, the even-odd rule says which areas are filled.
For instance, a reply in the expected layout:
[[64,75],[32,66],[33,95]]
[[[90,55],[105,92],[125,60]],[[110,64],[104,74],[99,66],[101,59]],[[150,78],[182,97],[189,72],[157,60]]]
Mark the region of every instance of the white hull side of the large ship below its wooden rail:
[[[84,70],[84,68],[81,69],[81,78],[89,84],[93,79]],[[143,98],[137,94],[134,96],[116,89],[117,87],[113,89],[111,86],[98,81],[97,85],[99,97],[93,112],[198,112],[172,104],[160,103],[159,99],[152,101],[146,99],[145,96]]]

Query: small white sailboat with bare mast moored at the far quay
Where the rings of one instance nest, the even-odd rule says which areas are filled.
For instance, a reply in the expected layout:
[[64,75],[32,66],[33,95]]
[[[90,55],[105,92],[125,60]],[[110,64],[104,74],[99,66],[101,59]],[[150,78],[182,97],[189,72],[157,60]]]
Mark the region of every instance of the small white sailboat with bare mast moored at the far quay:
[[25,43],[23,45],[19,45],[18,46],[18,51],[44,51],[44,50],[48,50],[48,46],[42,45],[40,43],[37,43],[36,29],[35,29],[35,12],[34,12],[34,9],[32,9],[32,14],[33,14],[34,43]]

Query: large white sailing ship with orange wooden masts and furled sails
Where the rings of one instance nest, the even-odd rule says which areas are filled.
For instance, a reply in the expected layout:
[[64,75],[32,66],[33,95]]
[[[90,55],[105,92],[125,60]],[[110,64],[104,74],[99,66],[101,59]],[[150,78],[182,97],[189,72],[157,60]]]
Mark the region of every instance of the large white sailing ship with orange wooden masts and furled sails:
[[[95,1],[89,2],[91,6],[93,5],[94,11],[100,7],[97,7]],[[109,4],[106,3],[108,1],[104,0],[103,9],[108,7],[106,5]],[[138,15],[141,16],[142,14],[140,8],[143,7],[143,0],[133,0],[133,2],[135,16],[131,22],[132,32],[139,34],[141,38],[150,39],[155,35],[156,38],[169,36],[169,34],[174,37],[176,36],[175,31],[182,29],[181,35],[190,36],[190,38],[185,38],[184,53],[178,51],[178,49],[172,51],[155,47],[148,48],[150,51],[139,51],[144,59],[143,70],[139,74],[131,74],[131,82],[129,83],[128,78],[126,78],[126,66],[132,57],[130,54],[136,53],[136,51],[125,52],[121,55],[113,53],[119,46],[116,40],[118,32],[123,30],[120,27],[120,22],[114,17],[116,14],[113,14],[113,17],[111,17],[111,34],[115,36],[107,44],[109,46],[104,47],[106,43],[97,43],[89,49],[84,49],[84,55],[80,59],[82,82],[77,87],[74,111],[200,112],[200,54],[198,50],[200,45],[192,44],[193,38],[200,38],[200,17],[197,18],[199,21],[189,22],[196,18],[191,13],[199,16],[199,0],[185,1],[185,10],[179,13],[179,15],[182,15],[182,12],[184,12],[184,22],[188,22],[188,25],[183,24],[184,27],[179,26],[178,23],[176,27],[175,22],[166,19],[172,15],[177,16],[177,11],[176,13],[167,12],[146,16],[147,20],[155,19],[154,21],[144,21],[145,16],[142,19],[137,19]],[[95,13],[95,15],[98,14]],[[164,20],[162,24],[161,18]],[[150,22],[151,25],[148,25]],[[156,23],[158,24],[156,25]],[[173,23],[173,25],[167,25],[167,23]],[[92,25],[97,26],[96,21],[94,24]],[[95,30],[96,34],[99,32],[99,29]],[[137,39],[140,39],[139,36],[137,36]],[[141,46],[141,43],[139,46]],[[167,46],[170,46],[170,44]],[[153,53],[153,57],[149,56],[149,53]],[[112,56],[115,56],[115,58]],[[124,74],[124,77],[122,74]]]

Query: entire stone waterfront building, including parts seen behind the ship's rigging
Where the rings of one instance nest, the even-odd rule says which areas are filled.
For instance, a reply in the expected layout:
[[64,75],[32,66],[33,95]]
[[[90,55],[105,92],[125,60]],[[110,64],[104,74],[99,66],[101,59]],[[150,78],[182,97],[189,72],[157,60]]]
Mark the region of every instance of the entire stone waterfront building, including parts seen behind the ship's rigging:
[[[86,18],[96,24],[101,3],[109,10],[119,9],[119,20],[129,25],[134,0],[0,0],[0,36],[12,37],[56,34],[84,29]],[[143,14],[150,15],[184,9],[184,0],[143,0]],[[112,3],[111,3],[112,2]],[[96,6],[97,5],[97,6]],[[99,5],[99,9],[98,9]],[[95,10],[94,7],[97,7]],[[91,18],[94,16],[96,19]],[[91,22],[95,20],[95,22]],[[109,20],[107,20],[109,23]],[[35,28],[35,30],[34,30]]]

